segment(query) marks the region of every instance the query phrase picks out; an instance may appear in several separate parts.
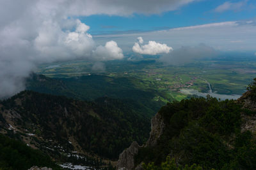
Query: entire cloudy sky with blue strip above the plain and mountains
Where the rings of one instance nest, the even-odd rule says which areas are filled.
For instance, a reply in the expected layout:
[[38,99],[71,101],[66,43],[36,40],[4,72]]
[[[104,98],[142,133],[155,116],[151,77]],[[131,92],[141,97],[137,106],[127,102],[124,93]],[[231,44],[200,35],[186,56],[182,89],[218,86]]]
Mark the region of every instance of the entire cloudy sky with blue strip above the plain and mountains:
[[255,39],[255,0],[0,0],[0,98],[24,90],[40,64],[254,55]]

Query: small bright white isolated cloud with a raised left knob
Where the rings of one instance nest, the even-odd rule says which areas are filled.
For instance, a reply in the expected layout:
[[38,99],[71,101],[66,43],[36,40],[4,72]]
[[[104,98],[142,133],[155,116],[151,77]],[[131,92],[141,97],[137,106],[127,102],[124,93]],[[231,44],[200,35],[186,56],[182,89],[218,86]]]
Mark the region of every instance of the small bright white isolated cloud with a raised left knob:
[[169,53],[172,51],[172,47],[167,46],[166,44],[157,43],[156,41],[148,41],[147,45],[142,45],[143,38],[138,37],[138,42],[134,43],[132,46],[133,52],[148,54],[148,55],[156,55],[158,53]]

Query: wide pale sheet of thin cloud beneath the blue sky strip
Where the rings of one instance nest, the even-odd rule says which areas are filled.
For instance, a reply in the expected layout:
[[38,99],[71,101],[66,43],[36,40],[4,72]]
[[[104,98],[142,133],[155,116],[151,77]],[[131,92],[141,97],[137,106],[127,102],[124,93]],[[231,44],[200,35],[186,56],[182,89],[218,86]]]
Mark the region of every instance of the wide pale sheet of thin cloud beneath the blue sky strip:
[[[124,52],[131,50],[134,39],[139,36],[145,39],[154,39],[165,44],[172,44],[172,48],[181,46],[196,46],[205,43],[216,50],[221,51],[252,51],[256,49],[256,21],[219,22],[189,27],[166,29],[163,31],[150,31],[134,34],[113,34],[94,36],[97,42],[106,39],[118,40]],[[239,43],[238,43],[239,40]],[[230,42],[236,41],[236,43]],[[140,44],[139,44],[140,46]]]

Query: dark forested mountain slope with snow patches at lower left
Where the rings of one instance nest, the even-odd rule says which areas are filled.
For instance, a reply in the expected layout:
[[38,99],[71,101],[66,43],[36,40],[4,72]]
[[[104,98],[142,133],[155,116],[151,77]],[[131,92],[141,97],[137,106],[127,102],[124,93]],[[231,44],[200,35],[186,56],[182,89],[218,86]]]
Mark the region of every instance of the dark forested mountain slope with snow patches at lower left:
[[33,148],[63,153],[96,153],[116,159],[131,141],[143,143],[149,120],[118,99],[95,102],[24,91],[0,103],[1,132]]

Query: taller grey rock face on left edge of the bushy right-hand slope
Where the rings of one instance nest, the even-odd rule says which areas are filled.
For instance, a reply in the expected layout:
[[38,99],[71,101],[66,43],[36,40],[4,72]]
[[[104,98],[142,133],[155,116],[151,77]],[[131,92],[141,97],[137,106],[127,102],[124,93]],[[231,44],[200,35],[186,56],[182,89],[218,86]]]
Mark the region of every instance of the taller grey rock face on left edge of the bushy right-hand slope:
[[163,118],[161,118],[160,113],[157,113],[156,116],[151,119],[150,137],[146,146],[155,146],[157,144],[158,138],[163,134],[164,126]]

